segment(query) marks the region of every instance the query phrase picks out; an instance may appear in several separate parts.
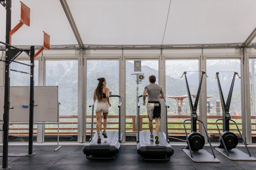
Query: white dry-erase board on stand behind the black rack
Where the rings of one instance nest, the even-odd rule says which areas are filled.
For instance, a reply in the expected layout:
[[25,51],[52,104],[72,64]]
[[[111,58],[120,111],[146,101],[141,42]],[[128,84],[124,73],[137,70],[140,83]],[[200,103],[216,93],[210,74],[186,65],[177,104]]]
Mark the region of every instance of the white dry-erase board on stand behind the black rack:
[[[10,122],[29,122],[29,99],[29,86],[10,87],[10,108],[14,107],[9,109]],[[58,86],[35,86],[34,105],[34,121],[57,122]],[[0,87],[0,106],[4,113],[4,87]]]

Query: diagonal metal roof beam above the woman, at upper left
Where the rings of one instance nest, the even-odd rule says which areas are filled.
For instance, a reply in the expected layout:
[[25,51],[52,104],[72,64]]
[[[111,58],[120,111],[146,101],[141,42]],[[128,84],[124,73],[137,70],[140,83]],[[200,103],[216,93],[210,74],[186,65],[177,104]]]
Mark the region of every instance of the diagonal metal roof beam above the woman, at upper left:
[[69,24],[70,24],[70,26],[71,26],[74,34],[75,34],[75,38],[77,40],[77,43],[80,46],[80,48],[83,49],[84,43],[83,43],[82,38],[81,38],[81,36],[80,36],[80,34],[77,30],[74,18],[72,16],[71,12],[70,12],[67,1],[66,0],[60,0],[60,3],[62,5],[62,8],[63,8],[68,20],[69,20]]

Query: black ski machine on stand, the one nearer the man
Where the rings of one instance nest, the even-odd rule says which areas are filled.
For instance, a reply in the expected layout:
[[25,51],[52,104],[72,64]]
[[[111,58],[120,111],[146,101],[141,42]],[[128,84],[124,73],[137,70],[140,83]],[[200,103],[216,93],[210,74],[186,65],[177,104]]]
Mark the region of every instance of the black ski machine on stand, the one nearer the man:
[[[200,90],[201,90],[203,75],[205,74],[205,72],[202,71],[202,75],[201,75],[201,79],[199,82],[199,87],[197,90],[197,96],[196,96],[194,105],[192,103],[186,74],[187,74],[187,72],[185,71],[182,74],[181,78],[183,77],[183,75],[185,75],[191,119],[185,120],[183,122],[184,130],[185,130],[186,137],[187,137],[186,142],[187,142],[188,146],[187,146],[187,148],[182,148],[182,150],[194,162],[216,162],[216,163],[218,163],[219,160],[215,157],[209,137],[207,136],[213,155],[211,155],[209,152],[207,152],[206,150],[203,149],[204,143],[205,143],[204,136],[201,133],[197,132],[197,121],[199,121],[202,123],[205,133],[207,134],[207,130],[205,129],[204,123],[201,120],[198,120],[198,117],[197,117],[197,105],[198,105],[198,101],[199,101],[199,94],[200,94]],[[189,135],[187,135],[187,131],[186,131],[186,127],[185,127],[186,121],[191,122],[191,133]]]

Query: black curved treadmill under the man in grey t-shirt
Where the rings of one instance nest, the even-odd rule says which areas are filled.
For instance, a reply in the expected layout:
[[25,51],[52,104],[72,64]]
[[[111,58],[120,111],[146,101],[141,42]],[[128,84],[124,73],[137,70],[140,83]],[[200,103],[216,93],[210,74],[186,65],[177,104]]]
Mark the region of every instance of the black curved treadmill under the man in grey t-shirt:
[[[137,129],[139,129],[139,115],[140,115],[140,104],[139,104],[139,96],[137,98]],[[166,104],[166,113],[167,113],[167,107],[169,107]],[[167,120],[167,114],[166,114],[166,120]],[[166,121],[167,122],[167,121]],[[166,132],[167,131],[167,124],[166,124]],[[154,136],[155,136],[154,132]],[[150,140],[150,132],[145,131],[138,131],[137,133],[137,152],[141,155],[141,158],[144,160],[170,160],[170,156],[173,155],[174,150],[169,144],[169,139],[166,137],[167,135],[163,133],[162,131],[159,131],[159,140],[160,143],[158,145],[155,144],[155,141]],[[153,157],[153,158],[152,158]]]

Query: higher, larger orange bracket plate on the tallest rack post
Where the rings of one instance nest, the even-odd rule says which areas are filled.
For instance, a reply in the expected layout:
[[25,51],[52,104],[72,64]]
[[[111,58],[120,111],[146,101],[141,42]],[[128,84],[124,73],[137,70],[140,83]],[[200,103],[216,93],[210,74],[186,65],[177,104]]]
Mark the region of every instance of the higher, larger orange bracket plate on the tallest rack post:
[[20,21],[19,23],[10,31],[10,44],[12,43],[12,35],[18,31],[23,24],[30,26],[30,8],[25,5],[22,1],[19,1],[20,4]]

